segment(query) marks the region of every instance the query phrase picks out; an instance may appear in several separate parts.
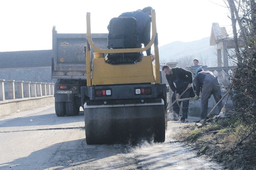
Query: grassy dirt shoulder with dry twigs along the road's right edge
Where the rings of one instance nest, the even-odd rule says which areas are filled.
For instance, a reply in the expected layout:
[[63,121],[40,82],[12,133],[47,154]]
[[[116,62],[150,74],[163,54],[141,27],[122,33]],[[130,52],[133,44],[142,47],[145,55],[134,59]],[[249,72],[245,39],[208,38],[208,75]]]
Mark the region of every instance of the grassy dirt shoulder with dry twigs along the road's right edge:
[[232,122],[229,117],[189,122],[173,135],[174,139],[194,147],[198,155],[217,161],[225,169],[256,169],[255,140],[241,142],[245,129],[240,122]]

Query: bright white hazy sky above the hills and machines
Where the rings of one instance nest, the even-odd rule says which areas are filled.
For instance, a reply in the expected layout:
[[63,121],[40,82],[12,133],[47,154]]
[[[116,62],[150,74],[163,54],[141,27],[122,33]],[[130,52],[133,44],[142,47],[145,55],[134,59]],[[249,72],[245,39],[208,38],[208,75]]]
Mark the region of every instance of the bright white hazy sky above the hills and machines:
[[58,33],[86,33],[86,12],[92,33],[107,33],[111,18],[146,6],[156,11],[159,46],[209,37],[212,22],[232,33],[222,0],[6,0],[0,5],[0,52],[52,49],[52,26]]

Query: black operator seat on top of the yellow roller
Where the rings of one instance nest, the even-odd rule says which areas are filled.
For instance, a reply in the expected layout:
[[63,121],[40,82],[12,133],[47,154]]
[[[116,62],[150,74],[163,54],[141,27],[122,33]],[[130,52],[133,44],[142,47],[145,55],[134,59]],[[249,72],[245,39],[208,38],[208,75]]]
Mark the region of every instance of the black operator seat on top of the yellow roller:
[[[140,48],[137,21],[133,17],[116,17],[109,22],[108,49]],[[129,64],[139,60],[141,53],[110,53],[108,63]]]

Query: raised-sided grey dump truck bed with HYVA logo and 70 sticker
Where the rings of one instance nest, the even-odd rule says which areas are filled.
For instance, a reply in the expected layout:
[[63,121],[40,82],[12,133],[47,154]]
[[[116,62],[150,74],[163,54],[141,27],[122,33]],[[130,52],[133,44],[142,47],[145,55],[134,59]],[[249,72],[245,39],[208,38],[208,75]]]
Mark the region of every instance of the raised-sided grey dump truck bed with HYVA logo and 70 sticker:
[[[107,48],[108,34],[91,34],[92,41],[102,49]],[[62,34],[52,30],[52,78],[86,79],[84,54],[86,34]],[[91,61],[93,59],[93,49]]]

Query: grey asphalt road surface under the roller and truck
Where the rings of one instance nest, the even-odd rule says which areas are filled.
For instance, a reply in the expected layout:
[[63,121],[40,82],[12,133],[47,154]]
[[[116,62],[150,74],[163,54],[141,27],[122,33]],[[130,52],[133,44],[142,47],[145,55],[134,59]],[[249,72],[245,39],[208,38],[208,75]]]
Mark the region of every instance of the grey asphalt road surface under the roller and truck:
[[221,169],[174,142],[183,126],[169,121],[164,143],[87,145],[83,111],[57,117],[51,104],[0,117],[0,169]]

